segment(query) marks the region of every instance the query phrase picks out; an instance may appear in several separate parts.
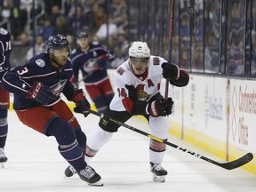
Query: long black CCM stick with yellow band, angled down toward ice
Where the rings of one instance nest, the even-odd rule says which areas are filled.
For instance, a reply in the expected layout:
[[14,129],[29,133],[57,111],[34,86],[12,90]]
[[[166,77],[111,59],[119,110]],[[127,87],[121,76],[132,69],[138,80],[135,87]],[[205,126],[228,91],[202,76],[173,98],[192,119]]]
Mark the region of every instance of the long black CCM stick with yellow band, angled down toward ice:
[[113,119],[113,118],[111,118],[109,116],[105,116],[104,114],[100,114],[100,113],[98,113],[96,111],[93,111],[93,110],[90,110],[90,112],[93,115],[95,115],[95,116],[100,116],[101,119],[105,119],[105,120],[107,120],[107,121],[109,121],[111,123],[118,124],[120,126],[124,126],[125,128],[130,129],[130,130],[132,130],[134,132],[139,132],[140,134],[145,135],[145,136],[147,136],[148,138],[150,138],[152,140],[156,140],[158,142],[165,143],[166,145],[168,145],[168,146],[170,146],[172,148],[177,148],[177,149],[179,149],[182,152],[190,154],[191,156],[196,156],[197,158],[203,159],[204,161],[206,161],[208,163],[215,164],[215,165],[220,166],[220,167],[222,167],[224,169],[227,169],[227,170],[236,169],[237,167],[240,167],[240,166],[242,166],[244,164],[247,164],[253,158],[252,153],[247,153],[246,155],[244,155],[244,156],[242,156],[242,157],[240,157],[240,158],[238,158],[238,159],[236,159],[236,160],[234,160],[232,162],[219,163],[219,162],[216,162],[216,161],[214,161],[214,160],[212,160],[212,159],[210,159],[210,158],[208,158],[206,156],[201,156],[200,154],[197,154],[197,153],[195,153],[193,151],[190,151],[187,148],[182,148],[182,147],[180,147],[178,145],[175,145],[175,144],[173,144],[171,142],[168,142],[167,140],[162,140],[160,138],[157,138],[154,135],[149,134],[148,132],[143,132],[143,131],[141,131],[139,129],[136,129],[136,128],[128,125],[128,124],[123,124],[122,122],[117,121],[117,120],[115,120],[115,119]]

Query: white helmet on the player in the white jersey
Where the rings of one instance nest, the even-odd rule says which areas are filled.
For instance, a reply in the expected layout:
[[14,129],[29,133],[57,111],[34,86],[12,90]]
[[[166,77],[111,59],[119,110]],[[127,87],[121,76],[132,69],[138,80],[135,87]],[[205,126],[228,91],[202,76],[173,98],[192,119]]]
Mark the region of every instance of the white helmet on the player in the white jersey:
[[129,57],[134,58],[148,58],[150,56],[150,49],[146,42],[133,42],[129,48]]

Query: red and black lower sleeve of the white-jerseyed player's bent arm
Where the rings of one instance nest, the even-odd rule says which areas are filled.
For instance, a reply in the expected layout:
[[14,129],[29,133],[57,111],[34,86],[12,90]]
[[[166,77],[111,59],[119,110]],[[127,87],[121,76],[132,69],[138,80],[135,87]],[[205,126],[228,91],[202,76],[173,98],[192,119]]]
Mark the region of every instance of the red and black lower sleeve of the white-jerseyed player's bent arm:
[[126,108],[127,112],[132,115],[147,115],[146,108],[148,103],[145,101],[137,100],[132,102],[129,98],[124,98],[123,100],[124,108]]

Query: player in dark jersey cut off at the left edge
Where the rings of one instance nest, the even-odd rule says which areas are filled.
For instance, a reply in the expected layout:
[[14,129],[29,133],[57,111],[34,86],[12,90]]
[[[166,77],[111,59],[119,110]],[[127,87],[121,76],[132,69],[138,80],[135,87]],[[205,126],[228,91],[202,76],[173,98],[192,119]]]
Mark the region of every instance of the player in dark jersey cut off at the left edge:
[[[12,52],[11,34],[4,28],[0,28],[0,83],[4,73],[11,68],[10,56]],[[7,161],[4,146],[8,133],[8,108],[10,106],[10,95],[0,85],[0,163]]]

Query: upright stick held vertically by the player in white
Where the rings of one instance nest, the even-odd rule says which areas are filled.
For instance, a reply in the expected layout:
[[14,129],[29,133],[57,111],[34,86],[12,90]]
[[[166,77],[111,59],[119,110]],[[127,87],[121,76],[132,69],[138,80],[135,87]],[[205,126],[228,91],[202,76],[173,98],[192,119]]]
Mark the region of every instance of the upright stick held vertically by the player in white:
[[[175,0],[172,0],[172,9],[170,13],[170,23],[169,23],[169,33],[168,33],[168,62],[171,64],[172,59],[172,30],[173,30],[173,20],[174,20],[174,6]],[[164,92],[164,100],[168,99],[169,92],[169,79],[166,79],[165,82],[165,92]]]

